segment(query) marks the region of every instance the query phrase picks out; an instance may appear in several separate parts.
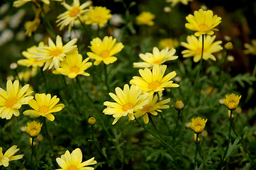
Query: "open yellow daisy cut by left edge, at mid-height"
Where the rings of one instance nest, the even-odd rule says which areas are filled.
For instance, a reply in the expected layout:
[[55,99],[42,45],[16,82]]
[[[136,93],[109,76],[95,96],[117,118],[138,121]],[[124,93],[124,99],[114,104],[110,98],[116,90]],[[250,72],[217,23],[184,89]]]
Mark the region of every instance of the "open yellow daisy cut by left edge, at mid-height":
[[28,92],[29,85],[26,84],[22,88],[18,80],[12,83],[8,80],[6,83],[6,91],[0,88],[0,117],[7,120],[11,119],[13,115],[18,117],[20,112],[19,108],[23,104],[28,104],[28,101],[33,98],[33,96],[28,96],[33,91]]

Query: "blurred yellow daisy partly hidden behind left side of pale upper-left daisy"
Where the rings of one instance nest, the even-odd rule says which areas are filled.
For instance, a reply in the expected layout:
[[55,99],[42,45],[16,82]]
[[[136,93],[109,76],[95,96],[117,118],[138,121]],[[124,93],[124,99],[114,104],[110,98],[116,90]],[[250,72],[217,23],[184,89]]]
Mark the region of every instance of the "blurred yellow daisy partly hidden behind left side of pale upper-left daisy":
[[[43,42],[39,42],[38,47],[45,47],[45,44]],[[33,53],[38,52],[37,46],[29,47],[26,51],[23,51],[21,54],[26,59],[18,60],[18,64],[25,66],[25,67],[33,67],[33,70],[38,69],[38,67],[43,67],[45,64],[45,60],[38,60],[38,58],[35,58]]]

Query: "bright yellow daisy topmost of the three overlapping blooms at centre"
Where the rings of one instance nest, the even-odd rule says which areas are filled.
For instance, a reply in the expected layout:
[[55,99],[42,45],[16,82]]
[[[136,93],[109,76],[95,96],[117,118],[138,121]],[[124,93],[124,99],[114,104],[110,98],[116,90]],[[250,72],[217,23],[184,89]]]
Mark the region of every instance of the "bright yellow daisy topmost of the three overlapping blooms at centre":
[[167,66],[155,65],[150,71],[150,69],[140,69],[139,73],[141,77],[133,77],[130,80],[130,84],[139,86],[144,93],[148,92],[150,95],[158,91],[165,90],[166,87],[179,87],[179,84],[173,84],[172,78],[176,76],[176,72],[170,72],[164,77],[165,70]]

